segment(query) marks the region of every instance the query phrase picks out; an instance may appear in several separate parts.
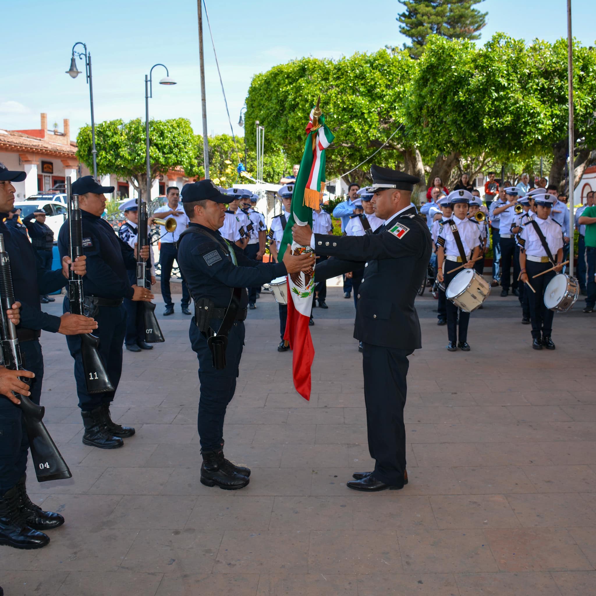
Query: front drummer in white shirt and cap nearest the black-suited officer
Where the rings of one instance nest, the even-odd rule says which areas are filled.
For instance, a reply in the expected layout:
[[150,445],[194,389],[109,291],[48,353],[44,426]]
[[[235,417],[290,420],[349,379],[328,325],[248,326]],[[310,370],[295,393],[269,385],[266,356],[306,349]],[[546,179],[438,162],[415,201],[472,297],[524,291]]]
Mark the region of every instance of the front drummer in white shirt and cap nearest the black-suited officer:
[[[468,204],[472,195],[467,190],[453,191],[447,197],[451,201],[453,208],[453,218],[443,225],[443,229],[437,238],[438,266],[437,280],[445,280],[445,288],[454,279],[455,275],[461,271],[451,273],[452,269],[460,267],[464,263],[464,268],[473,268],[474,259],[480,256],[480,233],[476,220],[467,218]],[[459,263],[459,265],[458,265]],[[443,273],[443,265],[445,272]],[[468,324],[470,322],[470,313],[459,311],[459,331],[458,331],[458,308],[451,302],[446,301],[447,306],[447,332],[449,352],[455,352],[458,347],[464,352],[470,351],[468,345]],[[459,336],[459,342],[458,342]]]

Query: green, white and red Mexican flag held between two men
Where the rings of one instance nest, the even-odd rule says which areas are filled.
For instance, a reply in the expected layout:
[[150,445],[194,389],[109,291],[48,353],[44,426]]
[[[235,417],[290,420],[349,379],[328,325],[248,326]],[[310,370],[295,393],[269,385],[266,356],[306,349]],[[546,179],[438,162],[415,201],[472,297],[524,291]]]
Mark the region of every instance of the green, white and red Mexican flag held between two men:
[[[333,142],[333,134],[325,126],[325,117],[319,110],[319,102],[311,111],[308,126],[306,126],[306,144],[300,172],[294,183],[291,213],[285,226],[281,241],[281,261],[285,252],[285,245],[290,244],[293,254],[312,252],[310,246],[296,244],[292,237],[294,224],[306,225],[312,228],[312,210],[319,206],[319,200],[325,190],[325,149]],[[311,366],[315,358],[312,345],[311,331],[308,322],[311,318],[312,297],[315,291],[315,270],[310,272],[288,275],[288,318],[285,324],[284,340],[290,342],[292,354],[292,376],[296,391],[305,399],[311,399]]]

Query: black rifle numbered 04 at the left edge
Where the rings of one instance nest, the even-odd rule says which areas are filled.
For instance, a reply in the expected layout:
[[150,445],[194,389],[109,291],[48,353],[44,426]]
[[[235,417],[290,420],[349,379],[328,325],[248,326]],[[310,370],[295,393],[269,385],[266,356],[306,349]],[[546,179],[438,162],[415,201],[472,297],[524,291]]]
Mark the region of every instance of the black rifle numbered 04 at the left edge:
[[[10,273],[10,259],[4,247],[4,235],[0,234],[0,336],[2,343],[2,359],[4,366],[10,370],[23,370],[23,358],[18,345],[17,328],[14,326],[6,311],[13,308],[14,291],[13,278]],[[28,378],[20,378],[29,382]],[[42,420],[45,414],[44,406],[38,406],[27,396],[16,395],[21,403],[16,405],[23,415],[23,422],[29,437],[31,456],[35,464],[35,474],[38,482],[46,480],[62,480],[72,477],[66,461],[58,451],[48,429]]]

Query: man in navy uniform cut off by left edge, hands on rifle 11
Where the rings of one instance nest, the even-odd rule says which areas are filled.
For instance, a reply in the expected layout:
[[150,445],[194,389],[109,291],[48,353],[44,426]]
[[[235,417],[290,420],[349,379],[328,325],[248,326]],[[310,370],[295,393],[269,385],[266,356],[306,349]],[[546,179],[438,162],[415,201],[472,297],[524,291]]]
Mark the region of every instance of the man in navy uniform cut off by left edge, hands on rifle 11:
[[[6,252],[12,260],[14,295],[22,303],[17,336],[23,365],[30,371],[22,371],[20,376],[32,379],[29,391],[25,390],[24,395],[39,404],[44,379],[44,358],[39,343],[41,330],[68,336],[92,333],[97,328],[97,323],[85,316],[67,313],[58,317],[42,312],[40,294],[60,290],[66,285],[70,257],[62,260],[61,269],[46,271],[29,238],[19,231],[9,229],[4,223],[4,218],[14,205],[12,182],[21,182],[24,179],[24,172],[10,171],[0,163],[0,234],[4,237]],[[73,270],[79,275],[85,275],[85,257],[77,258]],[[20,385],[17,387],[15,390],[23,389]],[[27,496],[25,482],[28,449],[29,441],[22,423],[21,410],[9,399],[0,396],[0,544],[24,549],[44,547],[49,538],[38,530],[49,530],[64,523],[62,516],[51,511],[42,511]]]

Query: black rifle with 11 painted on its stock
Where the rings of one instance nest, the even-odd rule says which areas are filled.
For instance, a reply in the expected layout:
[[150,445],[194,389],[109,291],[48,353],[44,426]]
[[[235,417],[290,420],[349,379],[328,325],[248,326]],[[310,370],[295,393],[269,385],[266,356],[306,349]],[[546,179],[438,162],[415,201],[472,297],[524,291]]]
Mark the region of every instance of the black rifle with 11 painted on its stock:
[[[70,190],[70,176],[66,179],[66,196],[69,201],[69,254],[72,262],[83,256],[83,221],[79,209],[79,195]],[[73,315],[88,316],[83,300],[83,278],[77,275],[72,267],[69,273],[70,312]],[[114,386],[105,372],[98,346],[100,338],[91,333],[82,333],[80,337],[80,353],[85,372],[85,384],[88,393],[108,393]]]

